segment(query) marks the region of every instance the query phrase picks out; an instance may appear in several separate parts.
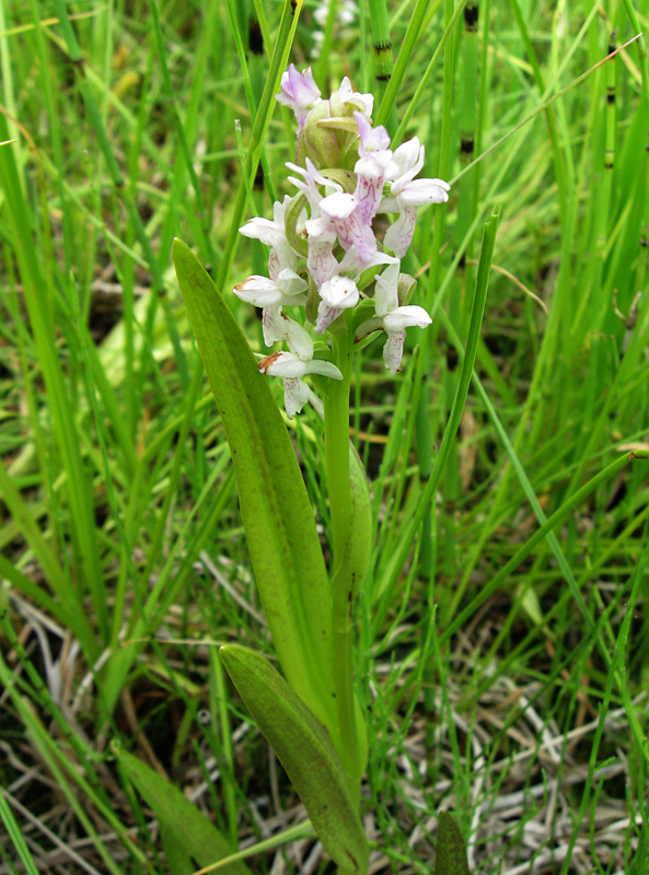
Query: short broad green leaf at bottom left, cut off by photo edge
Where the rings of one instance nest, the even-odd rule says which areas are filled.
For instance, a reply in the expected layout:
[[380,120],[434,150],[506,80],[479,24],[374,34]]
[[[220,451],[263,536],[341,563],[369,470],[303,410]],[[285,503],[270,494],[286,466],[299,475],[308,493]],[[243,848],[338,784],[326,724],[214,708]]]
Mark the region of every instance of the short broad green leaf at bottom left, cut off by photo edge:
[[[176,786],[118,745],[114,746],[114,752],[128,779],[158,818],[172,875],[192,875],[196,864],[209,866],[234,852],[228,839]],[[241,861],[224,865],[221,872],[223,875],[251,875]]]

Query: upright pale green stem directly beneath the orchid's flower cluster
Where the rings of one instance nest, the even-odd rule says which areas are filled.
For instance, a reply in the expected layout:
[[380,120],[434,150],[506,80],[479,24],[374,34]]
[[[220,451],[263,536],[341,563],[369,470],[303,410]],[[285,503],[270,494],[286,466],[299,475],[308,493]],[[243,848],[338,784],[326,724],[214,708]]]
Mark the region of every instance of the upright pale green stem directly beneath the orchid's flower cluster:
[[347,557],[352,524],[349,476],[349,383],[351,343],[347,325],[332,325],[332,360],[343,374],[332,381],[324,402],[325,466],[332,517],[332,610],[334,629],[334,681],[341,739],[340,756],[352,793],[360,800],[360,767],[355,716],[351,658],[352,580]]

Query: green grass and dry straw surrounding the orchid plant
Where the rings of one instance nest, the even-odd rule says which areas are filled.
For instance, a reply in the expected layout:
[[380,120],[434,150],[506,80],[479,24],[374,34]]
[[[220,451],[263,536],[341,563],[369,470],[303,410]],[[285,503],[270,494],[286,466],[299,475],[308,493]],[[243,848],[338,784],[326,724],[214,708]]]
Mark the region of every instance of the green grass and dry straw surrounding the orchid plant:
[[[347,74],[379,106],[392,58],[372,45],[391,35],[384,120],[453,184],[412,249],[426,348],[393,378],[371,347],[354,386],[376,512],[356,663],[372,872],[431,872],[440,808],[476,873],[649,871],[649,468],[622,459],[649,447],[644,43],[595,67],[646,30],[636,5],[370,2],[321,40],[323,91]],[[178,235],[260,349],[230,290],[264,272],[234,233],[251,149],[245,214],[290,190],[289,115],[251,139],[281,11],[0,3],[1,875],[169,871],[114,739],[234,844],[304,816],[217,656],[269,643],[170,260]],[[413,539],[495,202],[476,378]],[[326,544],[322,428],[305,410],[291,429]],[[308,832],[248,863],[328,865]]]

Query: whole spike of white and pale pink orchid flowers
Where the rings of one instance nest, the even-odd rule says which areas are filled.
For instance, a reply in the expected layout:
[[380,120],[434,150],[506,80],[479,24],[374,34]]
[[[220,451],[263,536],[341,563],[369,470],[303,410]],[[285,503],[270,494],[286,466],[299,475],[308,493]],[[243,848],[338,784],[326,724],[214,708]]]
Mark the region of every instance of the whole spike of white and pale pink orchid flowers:
[[[343,374],[285,308],[304,307],[304,324],[316,335],[354,330],[359,341],[382,330],[383,361],[396,373],[406,328],[430,324],[422,307],[407,305],[415,280],[399,272],[401,259],[415,233],[417,207],[447,201],[450,186],[415,178],[424,166],[419,140],[393,152],[385,128],[372,126],[373,96],[352,91],[347,78],[323,101],[311,70],[300,73],[291,65],[277,100],[298,122],[295,163],[287,164],[297,194],[275,203],[273,221],[253,219],[241,229],[269,247],[268,277],[248,277],[234,292],[262,307],[266,345],[289,347],[263,359],[259,370],[283,378],[292,418],[309,400],[305,374]],[[382,241],[374,229],[379,213],[396,214]]]

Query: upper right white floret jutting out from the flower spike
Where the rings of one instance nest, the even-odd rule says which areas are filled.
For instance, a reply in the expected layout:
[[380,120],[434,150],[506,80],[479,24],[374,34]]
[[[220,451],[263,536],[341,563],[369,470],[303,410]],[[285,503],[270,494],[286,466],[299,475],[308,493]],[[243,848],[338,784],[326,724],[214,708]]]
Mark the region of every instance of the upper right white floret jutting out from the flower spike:
[[417,207],[444,203],[451,186],[443,179],[415,179],[424,166],[424,147],[417,137],[399,145],[392,159],[397,173],[390,186],[390,197],[383,198],[379,209],[399,213],[396,222],[387,229],[383,243],[397,258],[403,258],[413,242]]

